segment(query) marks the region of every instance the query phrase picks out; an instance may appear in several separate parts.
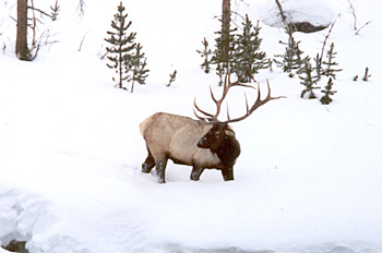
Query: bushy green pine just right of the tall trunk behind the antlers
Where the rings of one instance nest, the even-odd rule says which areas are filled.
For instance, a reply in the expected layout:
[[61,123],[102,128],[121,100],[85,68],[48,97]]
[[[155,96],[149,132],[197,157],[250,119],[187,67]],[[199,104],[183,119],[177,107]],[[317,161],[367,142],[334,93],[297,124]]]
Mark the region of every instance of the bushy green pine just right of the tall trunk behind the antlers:
[[253,27],[247,14],[242,26],[242,34],[235,39],[234,69],[240,82],[248,83],[260,69],[266,68],[268,60],[265,59],[265,52],[260,51],[263,39],[259,37],[259,21]]

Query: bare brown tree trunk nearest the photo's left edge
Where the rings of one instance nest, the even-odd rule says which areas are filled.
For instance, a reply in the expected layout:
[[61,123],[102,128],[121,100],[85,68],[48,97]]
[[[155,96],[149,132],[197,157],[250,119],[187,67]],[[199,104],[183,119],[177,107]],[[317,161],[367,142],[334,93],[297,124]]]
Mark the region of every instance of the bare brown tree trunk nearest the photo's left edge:
[[26,36],[27,36],[27,0],[17,0],[16,56],[20,60],[29,60]]

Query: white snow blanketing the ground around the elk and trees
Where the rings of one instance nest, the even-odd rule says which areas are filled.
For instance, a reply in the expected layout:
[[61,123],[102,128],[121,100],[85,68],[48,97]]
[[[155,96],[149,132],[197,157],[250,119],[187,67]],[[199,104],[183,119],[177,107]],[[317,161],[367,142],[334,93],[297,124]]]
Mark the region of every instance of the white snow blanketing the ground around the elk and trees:
[[[206,170],[193,182],[190,167],[169,162],[166,184],[140,172],[146,148],[139,124],[157,111],[193,117],[194,97],[213,108],[208,85],[218,93],[217,77],[200,69],[195,50],[203,37],[213,45],[219,3],[124,2],[151,70],[133,94],[114,87],[100,60],[119,1],[85,1],[83,14],[77,1],[59,2],[58,20],[44,19],[39,32],[58,43],[34,62],[15,59],[15,1],[0,3],[0,244],[26,240],[31,253],[382,252],[382,4],[351,2],[359,27],[372,21],[358,36],[347,1],[309,3],[320,4],[311,16],[327,17],[322,8],[341,13],[329,43],[344,71],[331,105],[301,99],[298,77],[263,71],[261,91],[268,79],[272,94],[287,98],[232,124],[242,149],[236,180]],[[255,21],[272,15],[261,9],[271,3],[231,4]],[[284,31],[261,26],[263,50],[282,53]],[[326,33],[296,37],[315,56]],[[369,82],[361,81],[366,67]],[[242,89],[228,103],[232,117],[242,113]]]

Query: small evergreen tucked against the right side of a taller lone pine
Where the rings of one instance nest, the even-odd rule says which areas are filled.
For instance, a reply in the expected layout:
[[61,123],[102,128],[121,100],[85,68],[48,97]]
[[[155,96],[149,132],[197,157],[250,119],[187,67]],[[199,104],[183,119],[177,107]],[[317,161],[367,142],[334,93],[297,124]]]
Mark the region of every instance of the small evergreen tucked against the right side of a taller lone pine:
[[128,77],[128,82],[131,82],[130,92],[134,91],[134,82],[136,81],[139,84],[145,84],[145,80],[148,76],[147,72],[150,70],[146,69],[146,58],[144,57],[144,52],[141,52],[143,47],[141,44],[136,44],[134,49],[135,52],[127,57],[127,71],[132,72],[132,74]]

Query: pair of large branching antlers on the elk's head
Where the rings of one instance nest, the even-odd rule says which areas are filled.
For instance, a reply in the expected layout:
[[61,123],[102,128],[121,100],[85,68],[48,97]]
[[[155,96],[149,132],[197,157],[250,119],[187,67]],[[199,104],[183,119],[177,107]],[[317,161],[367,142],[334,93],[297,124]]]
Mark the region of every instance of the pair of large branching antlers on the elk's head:
[[[228,80],[228,82],[227,82]],[[205,117],[200,117],[196,111],[194,110],[194,115],[198,119],[200,120],[204,120],[204,121],[207,121],[208,123],[232,123],[232,122],[238,122],[238,121],[241,121],[243,119],[246,119],[247,117],[249,117],[250,115],[252,115],[252,112],[254,110],[256,110],[259,107],[261,107],[262,105],[265,105],[267,101],[270,100],[273,100],[273,99],[278,99],[278,98],[285,98],[284,96],[279,96],[279,97],[272,97],[271,96],[271,87],[270,87],[270,82],[268,80],[266,80],[266,84],[267,84],[267,96],[265,97],[265,99],[261,99],[261,94],[260,94],[260,85],[258,84],[258,98],[256,100],[254,101],[254,104],[251,106],[251,108],[249,107],[248,105],[248,98],[247,98],[247,95],[244,94],[244,97],[246,97],[246,108],[247,108],[247,112],[246,115],[239,117],[239,118],[235,118],[235,119],[230,119],[229,118],[229,113],[228,113],[228,107],[227,107],[227,118],[228,120],[226,121],[219,121],[217,119],[218,115],[220,113],[220,107],[222,107],[222,103],[223,100],[226,98],[227,96],[227,93],[228,93],[228,89],[232,86],[243,86],[243,87],[251,87],[251,88],[254,88],[253,86],[250,86],[250,85],[246,85],[246,84],[240,84],[238,81],[235,82],[235,83],[230,83],[229,82],[229,76],[226,75],[225,77],[225,82],[224,82],[224,87],[223,87],[223,95],[222,95],[222,98],[220,99],[216,99],[213,92],[212,92],[212,88],[210,86],[210,92],[211,92],[211,96],[212,96],[212,99],[213,101],[216,104],[216,113],[215,115],[212,115],[212,113],[208,113],[202,109],[200,109],[198,106],[196,106],[196,98],[194,99],[194,107],[195,109],[203,113]],[[207,118],[206,118],[207,117]]]

